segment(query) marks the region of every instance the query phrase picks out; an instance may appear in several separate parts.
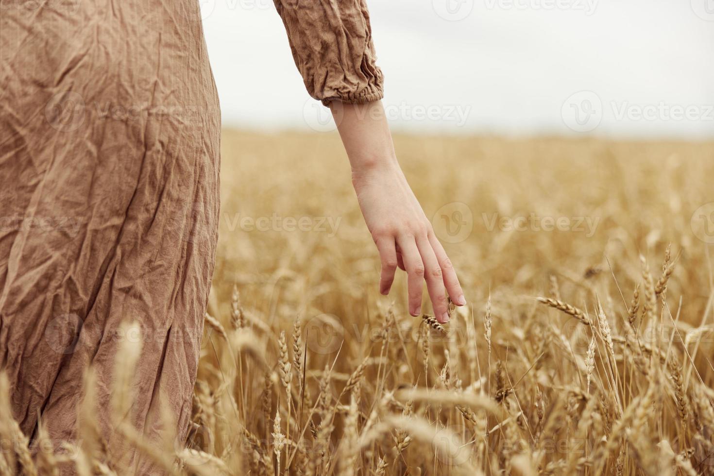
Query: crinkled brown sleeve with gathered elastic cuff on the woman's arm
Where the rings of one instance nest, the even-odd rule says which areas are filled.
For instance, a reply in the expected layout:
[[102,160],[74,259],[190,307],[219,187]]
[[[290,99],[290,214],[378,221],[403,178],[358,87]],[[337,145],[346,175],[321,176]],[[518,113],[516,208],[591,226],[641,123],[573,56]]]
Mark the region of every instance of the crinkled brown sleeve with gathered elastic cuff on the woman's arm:
[[326,106],[383,97],[365,0],[273,1],[310,96]]

